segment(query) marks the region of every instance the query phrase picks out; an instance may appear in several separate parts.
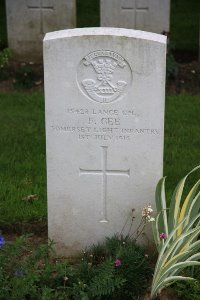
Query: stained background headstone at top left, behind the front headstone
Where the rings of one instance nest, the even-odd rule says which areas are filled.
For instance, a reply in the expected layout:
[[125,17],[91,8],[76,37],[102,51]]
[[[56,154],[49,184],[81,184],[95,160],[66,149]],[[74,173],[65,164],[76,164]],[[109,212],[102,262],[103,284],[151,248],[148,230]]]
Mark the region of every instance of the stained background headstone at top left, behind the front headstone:
[[8,44],[15,58],[42,60],[44,34],[76,26],[75,0],[6,0]]

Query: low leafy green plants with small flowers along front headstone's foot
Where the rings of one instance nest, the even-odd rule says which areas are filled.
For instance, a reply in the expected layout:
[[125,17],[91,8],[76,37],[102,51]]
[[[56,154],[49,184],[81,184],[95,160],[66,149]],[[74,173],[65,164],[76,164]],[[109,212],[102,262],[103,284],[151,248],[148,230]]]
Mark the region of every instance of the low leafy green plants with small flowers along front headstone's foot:
[[114,236],[70,265],[50,255],[52,243],[32,248],[29,239],[0,236],[0,300],[138,299],[151,268],[145,250]]

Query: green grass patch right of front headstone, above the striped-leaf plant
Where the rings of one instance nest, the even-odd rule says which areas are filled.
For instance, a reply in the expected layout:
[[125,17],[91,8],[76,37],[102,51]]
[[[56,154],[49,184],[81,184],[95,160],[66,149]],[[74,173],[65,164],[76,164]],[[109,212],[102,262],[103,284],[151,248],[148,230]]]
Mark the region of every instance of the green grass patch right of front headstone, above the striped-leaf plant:
[[170,187],[200,164],[200,96],[166,99],[164,174]]

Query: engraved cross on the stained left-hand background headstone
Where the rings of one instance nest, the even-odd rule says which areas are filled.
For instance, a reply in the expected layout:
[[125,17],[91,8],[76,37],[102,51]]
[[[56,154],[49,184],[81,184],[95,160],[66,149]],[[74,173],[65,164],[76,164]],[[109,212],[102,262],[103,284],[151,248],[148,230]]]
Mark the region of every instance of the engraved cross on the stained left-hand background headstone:
[[29,10],[38,10],[40,13],[40,33],[45,34],[44,18],[45,11],[53,11],[53,0],[27,0]]

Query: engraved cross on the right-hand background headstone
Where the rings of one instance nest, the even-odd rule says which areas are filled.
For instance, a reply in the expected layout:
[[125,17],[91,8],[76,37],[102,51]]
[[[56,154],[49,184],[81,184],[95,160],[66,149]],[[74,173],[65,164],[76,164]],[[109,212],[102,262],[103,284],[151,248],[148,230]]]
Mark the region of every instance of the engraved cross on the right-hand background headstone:
[[121,9],[131,13],[133,28],[145,28],[146,15],[149,10],[148,0],[122,0]]

